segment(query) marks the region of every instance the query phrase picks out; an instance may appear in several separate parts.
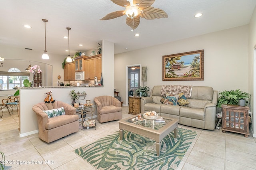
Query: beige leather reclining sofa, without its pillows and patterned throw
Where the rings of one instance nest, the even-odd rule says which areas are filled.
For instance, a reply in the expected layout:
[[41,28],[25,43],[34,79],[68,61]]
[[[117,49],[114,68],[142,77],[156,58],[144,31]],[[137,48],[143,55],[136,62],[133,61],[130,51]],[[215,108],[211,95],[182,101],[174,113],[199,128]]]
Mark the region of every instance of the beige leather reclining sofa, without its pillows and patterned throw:
[[165,105],[160,102],[162,85],[154,86],[150,97],[142,97],[141,113],[156,111],[158,115],[178,119],[181,125],[213,130],[216,120],[218,91],[212,87],[192,86],[189,104],[184,106]]

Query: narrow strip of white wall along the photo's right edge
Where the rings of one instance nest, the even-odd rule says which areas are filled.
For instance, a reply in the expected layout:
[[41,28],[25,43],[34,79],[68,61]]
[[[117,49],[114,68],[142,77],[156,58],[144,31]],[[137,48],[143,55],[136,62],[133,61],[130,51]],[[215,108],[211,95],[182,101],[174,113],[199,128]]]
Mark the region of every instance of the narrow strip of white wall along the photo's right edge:
[[253,130],[253,137],[256,138],[256,116],[254,115],[254,108],[256,108],[256,49],[254,49],[256,45],[256,8],[252,14],[252,18],[249,24],[249,45],[248,45],[248,88],[249,93],[253,94],[251,99],[250,111],[252,112],[252,130]]

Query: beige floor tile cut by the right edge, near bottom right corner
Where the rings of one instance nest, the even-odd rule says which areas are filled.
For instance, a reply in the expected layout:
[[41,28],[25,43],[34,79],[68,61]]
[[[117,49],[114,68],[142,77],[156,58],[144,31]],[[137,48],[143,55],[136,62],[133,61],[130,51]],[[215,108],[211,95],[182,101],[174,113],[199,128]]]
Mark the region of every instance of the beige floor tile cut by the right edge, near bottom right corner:
[[256,155],[248,154],[238,150],[226,148],[226,160],[243,166],[248,166],[250,168],[256,167]]

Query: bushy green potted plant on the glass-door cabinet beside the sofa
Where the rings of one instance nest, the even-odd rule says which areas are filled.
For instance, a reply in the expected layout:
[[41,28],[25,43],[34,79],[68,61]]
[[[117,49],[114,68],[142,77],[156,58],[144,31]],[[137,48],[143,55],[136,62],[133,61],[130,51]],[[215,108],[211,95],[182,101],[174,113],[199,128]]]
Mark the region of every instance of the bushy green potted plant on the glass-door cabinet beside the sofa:
[[245,105],[248,105],[250,97],[249,93],[242,92],[240,89],[222,91],[219,93],[217,107],[221,108],[221,105],[238,105],[239,100],[244,100]]

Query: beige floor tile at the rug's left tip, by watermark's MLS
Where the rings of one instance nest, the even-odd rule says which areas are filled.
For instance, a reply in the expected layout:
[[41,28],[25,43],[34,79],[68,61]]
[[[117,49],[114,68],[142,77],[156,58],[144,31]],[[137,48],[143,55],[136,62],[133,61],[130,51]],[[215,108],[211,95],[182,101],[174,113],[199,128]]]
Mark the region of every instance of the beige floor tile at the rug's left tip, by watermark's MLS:
[[54,169],[67,162],[77,158],[78,154],[74,152],[74,148],[67,146],[48,155],[43,156],[44,160],[54,161],[53,164],[49,164],[50,168]]

